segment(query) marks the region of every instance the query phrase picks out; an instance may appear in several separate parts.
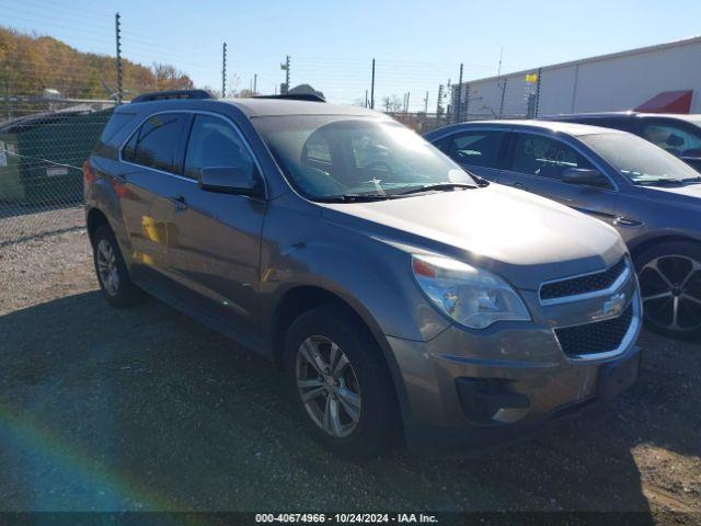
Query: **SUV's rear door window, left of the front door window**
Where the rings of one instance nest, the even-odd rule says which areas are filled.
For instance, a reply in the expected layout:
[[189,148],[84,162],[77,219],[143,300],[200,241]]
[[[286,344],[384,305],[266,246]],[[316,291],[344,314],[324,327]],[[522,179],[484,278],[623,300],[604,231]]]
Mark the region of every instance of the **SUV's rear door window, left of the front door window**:
[[187,116],[181,113],[152,115],[134,134],[122,151],[122,158],[143,167],[179,172],[177,152]]

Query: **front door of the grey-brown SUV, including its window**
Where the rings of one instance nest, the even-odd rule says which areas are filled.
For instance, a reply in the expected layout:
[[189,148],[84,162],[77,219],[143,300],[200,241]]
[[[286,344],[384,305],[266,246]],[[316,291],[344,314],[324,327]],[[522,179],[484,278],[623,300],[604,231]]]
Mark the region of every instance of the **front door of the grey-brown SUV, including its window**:
[[170,247],[170,273],[196,294],[195,308],[206,309],[245,338],[256,319],[266,204],[256,197],[200,190],[197,176],[208,167],[257,173],[245,139],[229,121],[197,114],[183,178],[172,187],[176,206],[169,221],[175,239]]

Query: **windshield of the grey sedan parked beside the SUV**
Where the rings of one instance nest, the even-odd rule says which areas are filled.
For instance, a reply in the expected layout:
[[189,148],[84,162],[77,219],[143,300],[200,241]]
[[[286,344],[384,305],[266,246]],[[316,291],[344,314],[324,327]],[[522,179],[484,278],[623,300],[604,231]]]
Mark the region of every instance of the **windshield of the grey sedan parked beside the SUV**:
[[596,134],[579,139],[635,184],[699,178],[686,162],[630,134]]

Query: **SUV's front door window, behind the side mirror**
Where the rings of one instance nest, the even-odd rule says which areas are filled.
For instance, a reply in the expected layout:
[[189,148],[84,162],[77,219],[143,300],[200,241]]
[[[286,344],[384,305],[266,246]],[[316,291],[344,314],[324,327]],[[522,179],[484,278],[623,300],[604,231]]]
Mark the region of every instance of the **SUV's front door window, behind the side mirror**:
[[210,115],[196,115],[185,153],[185,176],[197,179],[203,168],[235,167],[253,174],[254,162],[231,124]]

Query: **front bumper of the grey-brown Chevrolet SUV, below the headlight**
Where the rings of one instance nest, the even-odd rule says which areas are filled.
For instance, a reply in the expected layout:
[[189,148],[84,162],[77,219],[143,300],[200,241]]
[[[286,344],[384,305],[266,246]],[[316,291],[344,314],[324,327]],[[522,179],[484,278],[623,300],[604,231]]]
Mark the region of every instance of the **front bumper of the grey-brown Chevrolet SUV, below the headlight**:
[[[484,331],[453,325],[429,342],[388,338],[406,393],[410,449],[473,454],[527,437],[629,387],[637,374],[641,325],[640,298],[631,293],[634,317],[621,347],[593,359],[565,355],[556,324],[542,318]],[[612,369],[628,371],[610,380]]]

